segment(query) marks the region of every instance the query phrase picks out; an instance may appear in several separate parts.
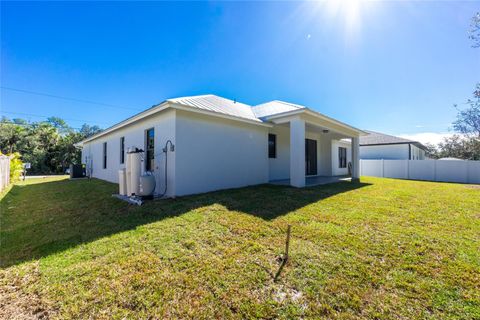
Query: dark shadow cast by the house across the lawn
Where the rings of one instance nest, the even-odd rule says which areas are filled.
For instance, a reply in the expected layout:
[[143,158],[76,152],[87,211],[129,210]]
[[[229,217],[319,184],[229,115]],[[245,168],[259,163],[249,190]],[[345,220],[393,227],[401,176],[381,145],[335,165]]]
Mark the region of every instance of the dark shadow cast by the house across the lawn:
[[141,207],[113,198],[117,185],[97,179],[15,185],[0,201],[0,266],[45,257],[212,204],[268,221],[367,185],[339,182],[304,189],[260,185],[150,201]]

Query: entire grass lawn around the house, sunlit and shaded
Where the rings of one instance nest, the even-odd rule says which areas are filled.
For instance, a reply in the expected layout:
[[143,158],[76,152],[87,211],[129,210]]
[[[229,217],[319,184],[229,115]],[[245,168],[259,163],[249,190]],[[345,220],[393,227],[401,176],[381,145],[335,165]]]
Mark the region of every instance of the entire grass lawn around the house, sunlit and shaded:
[[142,207],[115,191],[52,178],[3,195],[0,318],[480,319],[478,186],[362,178]]

